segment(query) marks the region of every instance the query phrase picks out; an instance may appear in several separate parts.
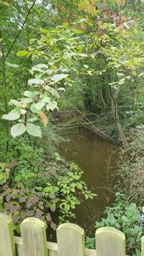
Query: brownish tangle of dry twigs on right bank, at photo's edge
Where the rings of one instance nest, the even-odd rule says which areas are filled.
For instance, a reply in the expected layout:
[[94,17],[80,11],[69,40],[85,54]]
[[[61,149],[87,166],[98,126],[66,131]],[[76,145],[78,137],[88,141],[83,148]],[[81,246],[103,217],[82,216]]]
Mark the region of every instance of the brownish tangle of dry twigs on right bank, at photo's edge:
[[121,181],[118,186],[127,195],[129,201],[137,206],[144,205],[144,129],[142,125],[130,128],[128,149],[121,149],[118,174]]

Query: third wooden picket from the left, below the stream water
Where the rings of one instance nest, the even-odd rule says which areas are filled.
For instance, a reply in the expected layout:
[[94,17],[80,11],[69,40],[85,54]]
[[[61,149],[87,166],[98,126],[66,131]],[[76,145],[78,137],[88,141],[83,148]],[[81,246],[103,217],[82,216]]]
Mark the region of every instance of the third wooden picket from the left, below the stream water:
[[58,256],[84,256],[84,230],[76,224],[60,224],[56,230]]

